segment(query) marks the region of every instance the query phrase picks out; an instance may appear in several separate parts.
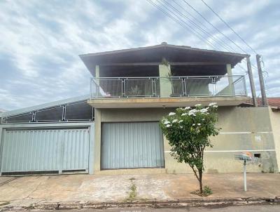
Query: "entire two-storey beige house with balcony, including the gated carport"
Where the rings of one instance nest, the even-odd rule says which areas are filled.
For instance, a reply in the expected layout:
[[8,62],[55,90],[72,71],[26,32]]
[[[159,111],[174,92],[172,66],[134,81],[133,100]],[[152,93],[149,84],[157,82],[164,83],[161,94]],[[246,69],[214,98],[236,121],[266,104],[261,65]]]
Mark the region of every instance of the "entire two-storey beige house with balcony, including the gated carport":
[[277,172],[269,108],[239,107],[250,98],[232,67],[247,57],[166,43],[80,55],[93,76],[90,97],[0,114],[1,174],[192,173],[170,156],[159,120],[210,102],[222,130],[205,171],[241,172],[235,154],[250,151],[260,161],[248,171]]

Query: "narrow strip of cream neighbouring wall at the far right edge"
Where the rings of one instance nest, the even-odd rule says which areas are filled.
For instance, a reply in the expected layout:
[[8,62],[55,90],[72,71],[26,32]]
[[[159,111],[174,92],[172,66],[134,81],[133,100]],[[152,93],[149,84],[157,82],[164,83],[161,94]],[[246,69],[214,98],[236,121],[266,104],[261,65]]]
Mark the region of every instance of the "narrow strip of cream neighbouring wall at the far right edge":
[[280,111],[272,111],[269,107],[269,116],[272,124],[278,171],[280,171]]

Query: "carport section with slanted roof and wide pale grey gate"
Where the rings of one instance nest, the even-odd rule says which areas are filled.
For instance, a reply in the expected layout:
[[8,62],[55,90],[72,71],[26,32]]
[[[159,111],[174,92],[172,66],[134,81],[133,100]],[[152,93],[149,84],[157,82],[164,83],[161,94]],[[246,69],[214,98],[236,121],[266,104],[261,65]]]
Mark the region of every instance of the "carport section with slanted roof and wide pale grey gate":
[[94,110],[88,98],[0,114],[0,174],[93,173]]

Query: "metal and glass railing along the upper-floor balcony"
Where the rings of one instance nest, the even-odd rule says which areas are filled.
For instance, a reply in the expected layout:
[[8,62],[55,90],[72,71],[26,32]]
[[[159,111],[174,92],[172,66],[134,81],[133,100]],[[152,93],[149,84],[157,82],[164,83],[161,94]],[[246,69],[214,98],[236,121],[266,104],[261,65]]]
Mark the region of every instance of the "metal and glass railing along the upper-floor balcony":
[[98,77],[91,98],[246,96],[244,76]]

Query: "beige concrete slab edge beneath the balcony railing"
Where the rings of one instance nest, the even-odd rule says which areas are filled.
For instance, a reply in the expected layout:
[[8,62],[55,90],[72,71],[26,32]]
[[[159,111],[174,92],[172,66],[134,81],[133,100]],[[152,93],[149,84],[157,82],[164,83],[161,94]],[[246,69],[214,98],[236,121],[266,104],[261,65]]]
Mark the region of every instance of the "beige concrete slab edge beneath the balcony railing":
[[217,102],[218,106],[237,106],[246,102],[248,96],[180,97],[180,98],[96,98],[87,100],[95,108],[137,108],[137,107],[186,107],[196,104],[208,105]]

